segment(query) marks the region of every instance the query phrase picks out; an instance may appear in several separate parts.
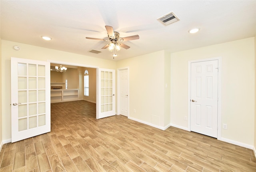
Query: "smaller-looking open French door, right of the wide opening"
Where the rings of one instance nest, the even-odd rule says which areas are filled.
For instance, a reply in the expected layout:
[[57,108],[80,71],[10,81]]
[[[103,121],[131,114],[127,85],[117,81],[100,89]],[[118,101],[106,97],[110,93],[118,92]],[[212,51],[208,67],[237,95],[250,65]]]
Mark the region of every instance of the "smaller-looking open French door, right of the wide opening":
[[97,119],[113,116],[116,114],[115,76],[115,70],[100,68],[98,70],[98,116],[96,116]]

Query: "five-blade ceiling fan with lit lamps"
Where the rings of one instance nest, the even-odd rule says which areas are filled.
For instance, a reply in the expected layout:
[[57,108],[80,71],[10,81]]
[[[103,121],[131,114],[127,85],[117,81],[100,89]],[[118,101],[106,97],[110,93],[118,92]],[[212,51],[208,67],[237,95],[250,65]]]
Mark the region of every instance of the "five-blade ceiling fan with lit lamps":
[[[108,32],[108,38],[109,40],[106,39],[100,39],[100,38],[89,38],[86,37],[86,39],[91,39],[91,40],[102,40],[102,41],[110,41],[110,43],[106,44],[102,49],[108,48],[109,51],[119,51],[122,48],[128,49],[130,46],[123,44],[123,41],[130,41],[130,40],[137,40],[140,38],[138,35],[133,35],[133,36],[127,36],[124,38],[119,38],[119,33],[114,31],[112,26],[105,26],[107,32]],[[115,53],[115,52],[114,52]],[[117,54],[113,54],[113,56]]]

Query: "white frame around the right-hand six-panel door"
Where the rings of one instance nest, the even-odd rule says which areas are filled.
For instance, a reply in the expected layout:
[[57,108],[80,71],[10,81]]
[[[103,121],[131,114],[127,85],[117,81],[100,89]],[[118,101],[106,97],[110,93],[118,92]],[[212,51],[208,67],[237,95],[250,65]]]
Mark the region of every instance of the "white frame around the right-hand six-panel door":
[[217,139],[221,140],[221,76],[222,76],[222,66],[221,60],[222,57],[214,57],[214,58],[205,58],[205,59],[198,59],[198,60],[191,60],[188,61],[188,131],[191,131],[191,116],[190,116],[190,93],[191,93],[191,63],[193,62],[204,62],[210,60],[218,60],[218,136]]

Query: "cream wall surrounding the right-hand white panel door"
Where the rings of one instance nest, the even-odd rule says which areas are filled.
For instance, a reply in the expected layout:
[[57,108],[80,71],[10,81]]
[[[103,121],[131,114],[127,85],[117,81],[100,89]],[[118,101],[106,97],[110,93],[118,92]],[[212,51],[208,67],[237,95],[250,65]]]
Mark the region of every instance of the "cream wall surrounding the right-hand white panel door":
[[254,145],[254,37],[171,54],[171,122],[188,128],[188,61],[222,56],[221,138]]

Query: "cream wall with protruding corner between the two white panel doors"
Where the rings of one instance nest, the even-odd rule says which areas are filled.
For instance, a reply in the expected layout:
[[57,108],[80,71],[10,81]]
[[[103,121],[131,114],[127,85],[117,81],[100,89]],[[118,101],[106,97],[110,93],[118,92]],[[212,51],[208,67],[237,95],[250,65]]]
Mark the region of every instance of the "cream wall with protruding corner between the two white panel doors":
[[129,117],[160,128],[170,124],[170,56],[159,51],[117,62],[124,67],[129,67]]

